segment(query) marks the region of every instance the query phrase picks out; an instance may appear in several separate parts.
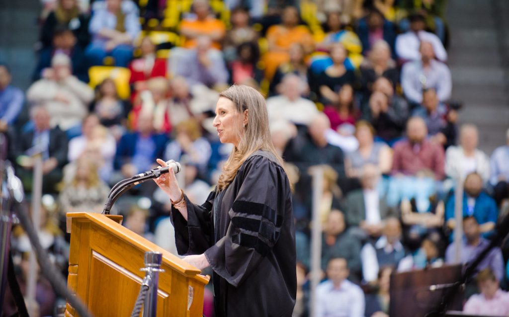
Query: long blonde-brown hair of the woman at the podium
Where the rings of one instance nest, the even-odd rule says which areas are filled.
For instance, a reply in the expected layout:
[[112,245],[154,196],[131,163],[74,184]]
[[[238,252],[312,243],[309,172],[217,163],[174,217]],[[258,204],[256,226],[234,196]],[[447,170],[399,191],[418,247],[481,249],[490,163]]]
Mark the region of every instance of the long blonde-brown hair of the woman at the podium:
[[[247,124],[242,128],[244,133],[238,146],[233,148],[230,157],[223,165],[222,174],[217,182],[218,189],[227,188],[237,175],[242,163],[258,150],[274,154],[279,165],[284,168],[283,160],[272,144],[267,105],[262,94],[246,85],[232,85],[219,96],[230,99],[239,113],[248,110],[248,116]],[[239,122],[239,125],[242,126],[242,123]]]

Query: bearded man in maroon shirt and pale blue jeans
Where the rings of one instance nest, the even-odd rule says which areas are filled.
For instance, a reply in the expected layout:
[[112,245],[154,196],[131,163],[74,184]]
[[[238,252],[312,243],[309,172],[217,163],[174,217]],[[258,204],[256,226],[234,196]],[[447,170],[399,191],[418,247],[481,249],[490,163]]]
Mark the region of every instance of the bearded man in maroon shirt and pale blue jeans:
[[419,212],[430,208],[429,197],[440,189],[444,178],[443,147],[426,138],[428,128],[422,118],[412,117],[407,123],[407,139],[394,145],[392,179],[387,204],[394,207],[402,199],[415,198]]

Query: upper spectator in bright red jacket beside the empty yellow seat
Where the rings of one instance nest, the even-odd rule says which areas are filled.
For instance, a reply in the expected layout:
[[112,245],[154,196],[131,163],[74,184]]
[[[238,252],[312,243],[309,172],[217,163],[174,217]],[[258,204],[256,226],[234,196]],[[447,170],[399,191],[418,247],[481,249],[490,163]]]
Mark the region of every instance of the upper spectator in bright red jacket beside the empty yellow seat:
[[131,78],[129,79],[132,90],[131,102],[135,100],[140,91],[147,89],[147,80],[155,77],[166,77],[166,60],[156,57],[156,46],[148,36],[142,39],[139,48],[142,50],[142,56],[129,64],[129,70],[131,71]]

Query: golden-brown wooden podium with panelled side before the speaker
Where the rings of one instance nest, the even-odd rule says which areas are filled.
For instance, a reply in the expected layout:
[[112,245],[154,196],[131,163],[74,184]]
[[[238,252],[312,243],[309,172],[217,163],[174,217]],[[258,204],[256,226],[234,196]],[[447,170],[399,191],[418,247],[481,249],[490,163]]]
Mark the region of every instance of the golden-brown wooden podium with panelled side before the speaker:
[[[130,316],[145,272],[146,251],[162,253],[157,316],[202,316],[209,277],[131,232],[122,216],[68,213],[71,233],[68,286],[96,316]],[[67,303],[66,317],[77,316]]]

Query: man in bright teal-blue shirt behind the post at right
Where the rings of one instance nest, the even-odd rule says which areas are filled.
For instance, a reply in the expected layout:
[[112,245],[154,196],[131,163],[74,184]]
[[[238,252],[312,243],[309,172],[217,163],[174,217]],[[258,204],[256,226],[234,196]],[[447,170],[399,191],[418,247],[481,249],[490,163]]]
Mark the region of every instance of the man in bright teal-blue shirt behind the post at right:
[[[479,223],[483,236],[489,236],[495,228],[498,209],[495,199],[483,191],[483,179],[476,172],[470,173],[465,178],[462,205],[463,217],[473,216]],[[455,197],[452,195],[447,199],[445,205],[445,221],[450,229],[454,229],[456,226],[454,210]]]

